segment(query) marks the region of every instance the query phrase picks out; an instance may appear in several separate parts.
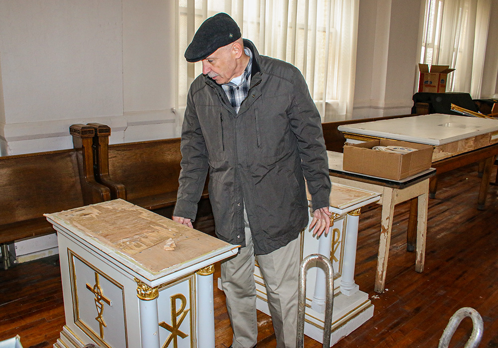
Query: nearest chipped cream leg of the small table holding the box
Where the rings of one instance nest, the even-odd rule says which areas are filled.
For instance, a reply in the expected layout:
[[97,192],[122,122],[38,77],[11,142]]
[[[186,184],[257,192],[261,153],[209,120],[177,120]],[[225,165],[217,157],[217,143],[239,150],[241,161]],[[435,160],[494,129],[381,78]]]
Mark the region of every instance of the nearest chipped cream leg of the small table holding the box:
[[384,188],[382,198],[382,213],[380,219],[380,239],[378,242],[377,273],[375,274],[375,292],[384,291],[389,245],[391,242],[392,218],[394,215],[394,189]]

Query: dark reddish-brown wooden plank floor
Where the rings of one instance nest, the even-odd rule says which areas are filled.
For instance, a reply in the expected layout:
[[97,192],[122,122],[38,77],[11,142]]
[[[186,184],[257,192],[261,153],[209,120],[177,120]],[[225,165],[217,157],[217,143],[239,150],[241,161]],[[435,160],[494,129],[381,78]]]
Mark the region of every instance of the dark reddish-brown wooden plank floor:
[[[334,347],[437,347],[450,317],[467,306],[484,320],[479,347],[498,347],[498,188],[490,187],[487,209],[478,211],[476,171],[477,166],[470,166],[440,178],[436,198],[429,200],[423,273],[414,270],[414,253],[405,251],[408,205],[396,207],[382,294],[373,292],[380,209],[371,206],[362,211],[356,282],[369,293],[375,310],[372,319]],[[216,266],[215,279],[219,275]],[[226,348],[232,332],[225,298],[218,289],[214,296],[216,347]],[[24,348],[52,347],[63,324],[57,256],[0,270],[0,340],[18,334]],[[271,318],[260,312],[258,329],[257,347],[275,347]],[[467,318],[450,347],[464,347],[471,331]],[[306,338],[305,347],[322,345]]]

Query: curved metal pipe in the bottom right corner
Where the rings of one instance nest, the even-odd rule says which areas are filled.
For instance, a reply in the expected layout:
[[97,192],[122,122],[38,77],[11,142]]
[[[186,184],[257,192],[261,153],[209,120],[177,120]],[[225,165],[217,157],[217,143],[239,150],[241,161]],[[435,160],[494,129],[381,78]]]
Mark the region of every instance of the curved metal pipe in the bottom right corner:
[[470,335],[469,340],[465,344],[465,348],[476,348],[477,346],[479,346],[479,343],[483,338],[483,318],[474,308],[463,307],[456,311],[455,314],[453,314],[453,316],[450,318],[450,321],[446,326],[446,329],[444,329],[441,339],[439,340],[438,348],[448,348],[453,334],[460,325],[460,322],[466,317],[470,317],[472,319],[474,328],[472,329],[472,334]]

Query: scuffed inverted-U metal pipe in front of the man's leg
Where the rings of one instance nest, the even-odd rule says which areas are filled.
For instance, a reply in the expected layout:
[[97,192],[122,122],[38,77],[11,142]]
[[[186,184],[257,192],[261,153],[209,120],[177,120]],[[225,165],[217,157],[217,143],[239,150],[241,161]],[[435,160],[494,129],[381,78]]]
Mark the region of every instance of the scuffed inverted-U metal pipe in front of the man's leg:
[[304,348],[304,314],[306,310],[306,274],[308,263],[321,262],[326,269],[327,297],[325,307],[325,320],[323,325],[323,347],[330,348],[330,332],[332,330],[332,308],[334,307],[334,268],[332,262],[321,255],[311,254],[301,262],[299,270],[299,302],[297,311],[297,348]]

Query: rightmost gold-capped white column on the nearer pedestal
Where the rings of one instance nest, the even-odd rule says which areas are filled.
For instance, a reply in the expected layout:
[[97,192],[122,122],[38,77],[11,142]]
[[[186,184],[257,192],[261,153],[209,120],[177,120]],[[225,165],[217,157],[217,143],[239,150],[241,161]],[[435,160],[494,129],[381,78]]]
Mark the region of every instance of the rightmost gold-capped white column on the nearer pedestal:
[[215,348],[214,271],[214,265],[209,265],[199,269],[195,274],[197,285],[197,342],[199,345],[199,341],[202,340],[202,348]]

